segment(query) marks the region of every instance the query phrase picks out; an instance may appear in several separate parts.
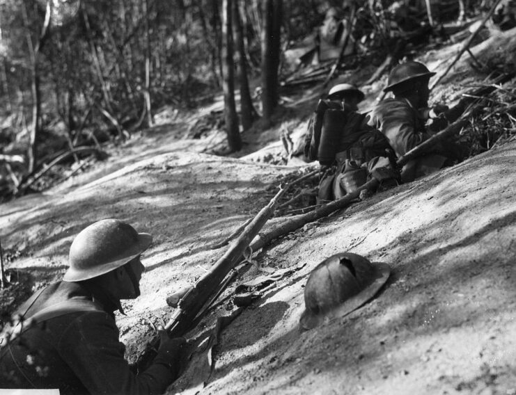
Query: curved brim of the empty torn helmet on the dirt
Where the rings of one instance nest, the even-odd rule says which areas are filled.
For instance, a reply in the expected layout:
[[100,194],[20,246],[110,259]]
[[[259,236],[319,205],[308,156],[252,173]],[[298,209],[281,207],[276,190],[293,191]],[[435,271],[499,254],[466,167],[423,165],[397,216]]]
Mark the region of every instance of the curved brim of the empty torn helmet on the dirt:
[[313,312],[305,309],[299,319],[301,329],[310,330],[320,325],[322,321],[331,321],[332,319],[347,316],[347,314],[354,312],[354,310],[365,305],[368,300],[372,299],[389,278],[391,266],[383,262],[371,262],[371,264],[375,268],[375,275],[371,277],[370,282],[368,282],[362,291],[352,298],[345,300],[326,314],[313,314]]

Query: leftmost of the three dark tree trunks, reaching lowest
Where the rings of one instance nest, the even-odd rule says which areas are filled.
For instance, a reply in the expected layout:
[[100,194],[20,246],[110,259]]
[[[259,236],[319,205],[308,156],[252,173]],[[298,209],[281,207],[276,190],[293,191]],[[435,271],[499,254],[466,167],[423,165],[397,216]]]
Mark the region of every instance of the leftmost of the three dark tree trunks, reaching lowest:
[[222,76],[224,89],[224,118],[226,133],[231,152],[242,148],[242,138],[238,130],[237,111],[235,108],[235,81],[233,70],[233,32],[231,29],[231,9],[233,0],[222,2]]

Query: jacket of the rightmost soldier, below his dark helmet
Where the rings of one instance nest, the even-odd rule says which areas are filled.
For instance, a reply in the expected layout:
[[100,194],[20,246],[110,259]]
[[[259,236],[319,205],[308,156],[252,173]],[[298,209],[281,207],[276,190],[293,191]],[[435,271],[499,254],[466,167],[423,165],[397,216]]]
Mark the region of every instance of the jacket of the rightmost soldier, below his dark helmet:
[[388,108],[381,105],[375,108],[369,124],[380,129],[396,155],[401,156],[430,137],[427,132],[417,130],[416,121],[407,104],[391,102]]

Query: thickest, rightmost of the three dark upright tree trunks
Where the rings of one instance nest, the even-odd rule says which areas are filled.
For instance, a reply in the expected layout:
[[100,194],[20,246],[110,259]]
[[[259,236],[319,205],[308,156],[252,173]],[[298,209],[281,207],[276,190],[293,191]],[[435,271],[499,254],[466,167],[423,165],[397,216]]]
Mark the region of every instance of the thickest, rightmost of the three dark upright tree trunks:
[[262,28],[262,106],[263,118],[270,122],[278,106],[278,67],[280,58],[280,33],[282,0],[263,2]]

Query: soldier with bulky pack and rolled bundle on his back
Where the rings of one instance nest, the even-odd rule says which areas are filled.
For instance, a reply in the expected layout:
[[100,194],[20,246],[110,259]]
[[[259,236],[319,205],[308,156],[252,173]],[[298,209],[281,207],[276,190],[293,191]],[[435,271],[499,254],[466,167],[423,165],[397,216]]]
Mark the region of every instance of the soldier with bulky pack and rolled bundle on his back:
[[320,101],[315,110],[305,154],[321,165],[319,202],[340,199],[371,177],[378,179],[382,188],[397,182],[389,142],[367,124],[367,114],[358,112],[363,98],[357,87],[341,83],[329,91],[331,101]]

